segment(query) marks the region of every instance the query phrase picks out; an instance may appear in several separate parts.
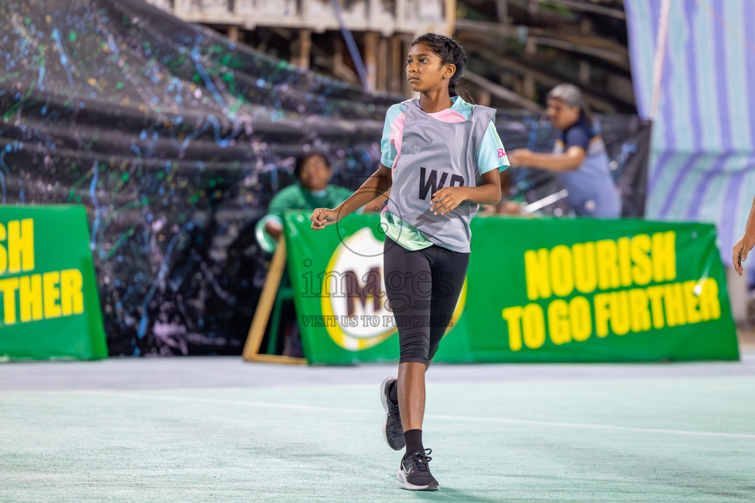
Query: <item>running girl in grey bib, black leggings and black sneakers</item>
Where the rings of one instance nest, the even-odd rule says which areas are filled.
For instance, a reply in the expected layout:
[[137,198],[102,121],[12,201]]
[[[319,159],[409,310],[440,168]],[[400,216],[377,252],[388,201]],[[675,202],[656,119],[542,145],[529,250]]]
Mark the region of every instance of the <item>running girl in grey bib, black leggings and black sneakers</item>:
[[444,35],[411,41],[406,78],[420,97],[388,109],[380,167],[337,208],[310,217],[312,228],[325,228],[390,189],[381,213],[384,278],[400,354],[398,379],[385,379],[381,400],[384,439],[393,449],[406,447],[396,475],[406,489],[438,489],[428,466],[432,450],[422,443],[424,374],[467,275],[470,220],[479,204],[501,200],[498,173],[508,165],[495,110],[459,96],[465,59]]

